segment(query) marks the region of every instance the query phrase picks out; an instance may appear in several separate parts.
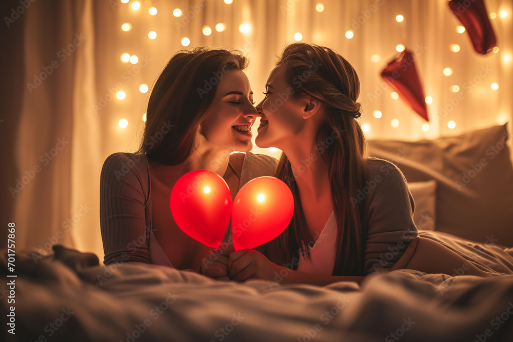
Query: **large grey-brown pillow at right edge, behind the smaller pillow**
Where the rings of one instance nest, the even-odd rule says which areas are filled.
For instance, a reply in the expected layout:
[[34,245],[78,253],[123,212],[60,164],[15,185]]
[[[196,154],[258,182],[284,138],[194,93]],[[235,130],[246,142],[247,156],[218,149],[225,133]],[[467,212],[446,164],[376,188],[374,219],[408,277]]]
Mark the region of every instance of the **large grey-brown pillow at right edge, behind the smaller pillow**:
[[369,140],[407,182],[437,182],[436,230],[513,246],[513,166],[506,124],[418,142]]

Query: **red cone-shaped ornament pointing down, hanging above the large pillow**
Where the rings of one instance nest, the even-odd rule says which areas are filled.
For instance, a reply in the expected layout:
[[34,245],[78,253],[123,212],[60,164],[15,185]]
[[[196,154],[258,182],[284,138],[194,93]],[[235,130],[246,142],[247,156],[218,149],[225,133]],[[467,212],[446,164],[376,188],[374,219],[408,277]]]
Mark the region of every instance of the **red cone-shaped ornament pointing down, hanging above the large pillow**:
[[404,50],[381,72],[381,77],[414,111],[429,121],[424,90],[415,67],[413,54]]

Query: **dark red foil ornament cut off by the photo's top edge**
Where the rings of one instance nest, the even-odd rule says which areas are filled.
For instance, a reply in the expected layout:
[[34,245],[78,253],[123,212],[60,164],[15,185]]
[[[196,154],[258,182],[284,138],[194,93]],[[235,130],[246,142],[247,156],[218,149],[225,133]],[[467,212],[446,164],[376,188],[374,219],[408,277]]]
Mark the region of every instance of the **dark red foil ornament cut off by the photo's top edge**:
[[491,52],[497,41],[483,0],[451,0],[449,8],[465,27],[474,49],[483,55]]

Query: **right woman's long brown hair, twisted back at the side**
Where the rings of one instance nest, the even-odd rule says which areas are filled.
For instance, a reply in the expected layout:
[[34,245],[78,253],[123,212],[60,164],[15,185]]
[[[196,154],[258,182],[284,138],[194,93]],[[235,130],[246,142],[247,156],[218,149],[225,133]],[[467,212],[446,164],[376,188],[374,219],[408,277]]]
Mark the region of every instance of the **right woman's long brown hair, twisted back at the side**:
[[[309,96],[322,103],[326,121],[319,127],[312,151],[318,149],[326,165],[330,183],[331,204],[337,222],[336,259],[332,275],[362,275],[366,215],[365,204],[358,203],[358,189],[366,180],[365,136],[357,118],[360,81],[353,67],[338,53],[318,45],[294,43],[287,46],[277,66],[286,68],[292,96]],[[302,75],[302,78],[298,78]],[[301,83],[298,82],[301,79]],[[303,82],[304,81],[304,82]],[[336,133],[336,134],[333,134]],[[329,137],[331,136],[331,140]],[[321,144],[324,140],[324,144]],[[326,144],[332,142],[331,144]],[[326,149],[320,149],[327,146]],[[287,156],[282,153],[276,176],[294,195],[294,214],[287,229],[265,245],[265,253],[278,265],[297,267],[301,253],[309,257],[307,241],[312,237],[306,225],[301,198]],[[313,240],[311,240],[313,242]],[[292,261],[292,264],[290,264]]]

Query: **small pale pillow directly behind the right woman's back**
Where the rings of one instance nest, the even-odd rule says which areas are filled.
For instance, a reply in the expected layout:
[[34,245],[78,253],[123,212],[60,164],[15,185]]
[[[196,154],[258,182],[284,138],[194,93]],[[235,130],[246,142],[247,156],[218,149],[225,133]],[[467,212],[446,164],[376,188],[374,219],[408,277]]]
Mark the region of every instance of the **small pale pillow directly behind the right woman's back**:
[[408,190],[415,202],[413,223],[417,229],[435,230],[437,181],[431,179],[427,182],[410,182]]

